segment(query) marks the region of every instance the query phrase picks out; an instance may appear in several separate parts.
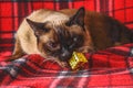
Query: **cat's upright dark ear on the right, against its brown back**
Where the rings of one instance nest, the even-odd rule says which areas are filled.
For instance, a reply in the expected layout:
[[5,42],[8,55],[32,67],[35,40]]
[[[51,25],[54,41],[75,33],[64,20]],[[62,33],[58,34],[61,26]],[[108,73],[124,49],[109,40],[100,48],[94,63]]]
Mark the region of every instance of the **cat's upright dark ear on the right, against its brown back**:
[[68,24],[69,25],[79,24],[81,26],[84,26],[84,15],[85,15],[85,10],[82,7],[75,12],[75,14],[73,16],[71,16]]

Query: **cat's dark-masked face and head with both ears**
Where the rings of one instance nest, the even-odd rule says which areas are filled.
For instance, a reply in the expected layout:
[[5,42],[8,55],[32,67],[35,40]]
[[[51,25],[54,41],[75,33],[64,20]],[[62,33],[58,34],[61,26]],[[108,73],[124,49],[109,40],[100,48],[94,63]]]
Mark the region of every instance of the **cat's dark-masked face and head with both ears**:
[[27,19],[38,40],[41,54],[66,61],[72,52],[83,46],[84,42],[84,8],[80,8],[74,15],[53,13],[44,22]]

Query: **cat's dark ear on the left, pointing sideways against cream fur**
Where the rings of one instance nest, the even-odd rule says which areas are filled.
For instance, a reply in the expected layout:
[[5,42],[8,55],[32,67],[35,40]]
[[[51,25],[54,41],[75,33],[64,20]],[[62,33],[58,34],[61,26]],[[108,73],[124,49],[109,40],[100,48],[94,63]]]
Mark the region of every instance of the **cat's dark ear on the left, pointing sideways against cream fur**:
[[43,32],[47,31],[47,29],[43,29],[44,26],[44,23],[40,23],[40,22],[34,22],[34,21],[31,21],[29,19],[25,19],[28,24],[30,25],[30,28],[33,30],[34,32],[34,35],[39,36],[41,35]]

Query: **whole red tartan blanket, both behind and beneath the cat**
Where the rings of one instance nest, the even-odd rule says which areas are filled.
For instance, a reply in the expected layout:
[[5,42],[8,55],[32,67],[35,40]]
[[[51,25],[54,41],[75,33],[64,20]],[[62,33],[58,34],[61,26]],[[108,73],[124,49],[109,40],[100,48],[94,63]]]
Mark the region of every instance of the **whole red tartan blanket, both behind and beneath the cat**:
[[11,55],[14,33],[33,10],[85,7],[111,15],[133,29],[133,0],[0,0],[0,87],[2,88],[86,88],[133,87],[133,44],[85,54],[89,68],[72,72],[57,63],[43,63],[38,55],[6,63]]

